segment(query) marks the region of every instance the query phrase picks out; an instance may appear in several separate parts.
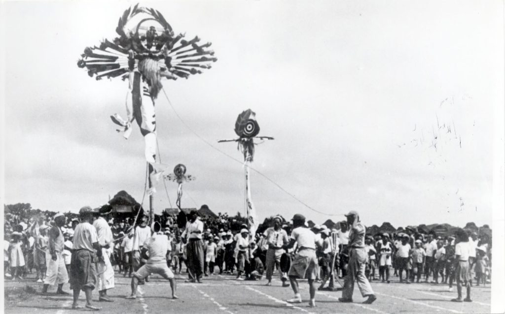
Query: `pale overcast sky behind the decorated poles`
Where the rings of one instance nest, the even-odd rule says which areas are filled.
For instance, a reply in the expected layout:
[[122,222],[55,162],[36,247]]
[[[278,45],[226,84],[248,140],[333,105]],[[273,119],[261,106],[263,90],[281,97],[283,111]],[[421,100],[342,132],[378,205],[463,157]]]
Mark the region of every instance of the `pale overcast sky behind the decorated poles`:
[[[127,83],[95,81],[76,65],[86,46],[116,37],[131,5],[4,3],[6,204],[75,212],[121,190],[141,201],[143,139],[134,125],[124,140],[109,118],[126,115]],[[159,10],[175,33],[213,43],[211,70],[164,81],[184,122],[242,159],[234,143],[217,140],[233,138],[237,115],[254,110],[260,135],[275,140],[257,146],[253,167],[303,202],[328,214],[357,210],[366,225],[491,224],[493,151],[502,149],[500,2],[140,5]],[[182,206],[244,213],[242,166],[187,129],[163,94],[156,113],[162,162],[196,177]],[[176,183],[167,187],[175,207]],[[254,172],[251,190],[260,220],[343,219],[312,212]],[[154,207],[170,207],[163,184]]]

